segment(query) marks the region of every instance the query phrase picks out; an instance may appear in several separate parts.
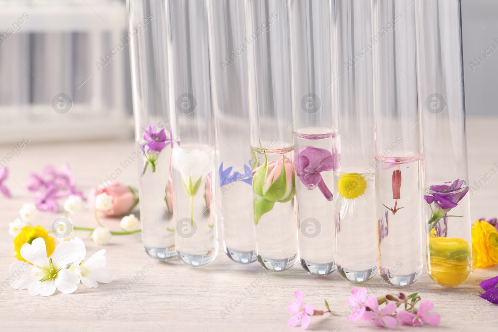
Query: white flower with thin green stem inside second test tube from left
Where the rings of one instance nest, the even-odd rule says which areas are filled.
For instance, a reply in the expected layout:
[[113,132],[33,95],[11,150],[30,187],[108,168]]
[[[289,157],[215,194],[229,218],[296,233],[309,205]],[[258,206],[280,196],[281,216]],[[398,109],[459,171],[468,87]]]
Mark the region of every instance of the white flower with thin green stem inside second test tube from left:
[[186,152],[177,147],[171,153],[172,165],[180,172],[185,193],[190,196],[190,220],[194,224],[194,196],[201,187],[202,180],[213,170],[213,158],[204,151],[194,149]]

